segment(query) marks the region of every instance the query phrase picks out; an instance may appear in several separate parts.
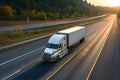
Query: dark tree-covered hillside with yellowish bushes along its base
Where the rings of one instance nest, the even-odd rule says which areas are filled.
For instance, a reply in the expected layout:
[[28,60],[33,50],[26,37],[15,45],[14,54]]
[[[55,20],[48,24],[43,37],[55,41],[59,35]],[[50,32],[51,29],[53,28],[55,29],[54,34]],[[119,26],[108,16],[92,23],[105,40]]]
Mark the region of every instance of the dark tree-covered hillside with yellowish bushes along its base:
[[86,0],[1,0],[0,17],[39,20],[93,16],[102,13]]

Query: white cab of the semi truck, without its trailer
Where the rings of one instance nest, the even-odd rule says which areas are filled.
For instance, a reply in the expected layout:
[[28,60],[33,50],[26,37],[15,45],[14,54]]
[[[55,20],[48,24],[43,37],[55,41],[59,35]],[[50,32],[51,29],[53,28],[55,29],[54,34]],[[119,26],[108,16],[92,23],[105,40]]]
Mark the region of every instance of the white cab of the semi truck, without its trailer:
[[54,62],[68,53],[66,35],[54,34],[44,51],[44,60]]

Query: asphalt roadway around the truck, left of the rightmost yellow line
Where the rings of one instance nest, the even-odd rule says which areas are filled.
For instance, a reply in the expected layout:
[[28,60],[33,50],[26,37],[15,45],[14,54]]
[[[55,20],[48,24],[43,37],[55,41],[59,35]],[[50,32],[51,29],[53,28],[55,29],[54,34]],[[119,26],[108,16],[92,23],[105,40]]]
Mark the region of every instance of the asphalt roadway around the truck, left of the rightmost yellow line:
[[85,42],[57,63],[42,60],[42,53],[50,36],[1,50],[0,80],[84,80],[99,55],[115,18],[115,15],[110,15],[86,25]]

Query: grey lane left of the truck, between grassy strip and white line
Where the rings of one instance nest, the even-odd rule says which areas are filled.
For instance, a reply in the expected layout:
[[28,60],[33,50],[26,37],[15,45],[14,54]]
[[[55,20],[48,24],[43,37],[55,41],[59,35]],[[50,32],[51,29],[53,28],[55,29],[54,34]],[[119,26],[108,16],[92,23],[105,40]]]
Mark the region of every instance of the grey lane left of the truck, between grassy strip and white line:
[[[41,50],[44,49],[44,47],[46,46],[46,42],[48,41],[48,38],[44,38],[38,41],[35,41],[33,43],[30,44],[23,44],[22,46],[19,46],[17,48],[12,48],[12,49],[5,49],[5,50],[1,50],[0,53],[0,63],[4,63],[10,59],[16,58],[18,56],[24,55],[27,52],[33,51],[35,49],[41,48]],[[43,44],[44,43],[44,44]],[[1,65],[1,64],[0,64]]]

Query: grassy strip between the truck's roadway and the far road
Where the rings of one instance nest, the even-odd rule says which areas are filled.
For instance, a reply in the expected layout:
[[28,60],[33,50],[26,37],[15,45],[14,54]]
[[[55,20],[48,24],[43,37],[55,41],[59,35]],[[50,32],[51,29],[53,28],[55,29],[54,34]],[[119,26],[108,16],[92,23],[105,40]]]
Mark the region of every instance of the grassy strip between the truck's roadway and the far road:
[[19,30],[17,32],[8,32],[8,33],[0,33],[0,47],[7,46],[13,43],[29,40],[32,38],[44,36],[47,34],[55,33],[57,31],[71,28],[74,26],[80,26],[80,25],[85,25],[88,23],[92,23],[96,20],[90,20],[90,21],[84,21],[84,22],[78,22],[78,23],[73,23],[73,24],[68,24],[68,25],[62,25],[62,26],[57,26],[53,28],[45,28],[41,30],[33,30],[33,31],[22,31]]

